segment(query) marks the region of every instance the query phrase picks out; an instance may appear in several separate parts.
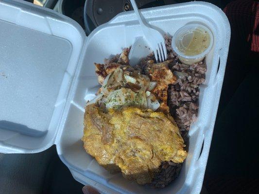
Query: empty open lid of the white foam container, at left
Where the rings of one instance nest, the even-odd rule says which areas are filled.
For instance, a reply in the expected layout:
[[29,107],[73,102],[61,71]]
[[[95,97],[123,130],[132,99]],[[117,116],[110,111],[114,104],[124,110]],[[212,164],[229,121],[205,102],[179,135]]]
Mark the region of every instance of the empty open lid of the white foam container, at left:
[[85,40],[69,17],[0,1],[0,152],[53,145]]

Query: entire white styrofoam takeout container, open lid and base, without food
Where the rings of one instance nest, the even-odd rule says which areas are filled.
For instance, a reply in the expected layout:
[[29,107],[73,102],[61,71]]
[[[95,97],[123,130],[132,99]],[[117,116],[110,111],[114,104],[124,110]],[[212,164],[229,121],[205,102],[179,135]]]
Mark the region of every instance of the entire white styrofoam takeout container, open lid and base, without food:
[[198,120],[189,132],[189,154],[173,184],[154,190],[120,173],[112,175],[86,154],[80,140],[86,100],[99,87],[93,63],[102,63],[142,36],[133,12],[119,14],[86,37],[75,21],[50,9],[0,0],[0,152],[36,153],[55,144],[73,177],[101,193],[198,194],[224,79],[229,23],[222,10],[206,2],[141,13],[171,35],[188,23],[206,25],[214,35],[206,58],[206,83],[200,88]]

